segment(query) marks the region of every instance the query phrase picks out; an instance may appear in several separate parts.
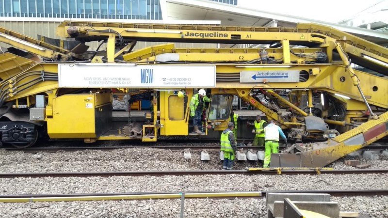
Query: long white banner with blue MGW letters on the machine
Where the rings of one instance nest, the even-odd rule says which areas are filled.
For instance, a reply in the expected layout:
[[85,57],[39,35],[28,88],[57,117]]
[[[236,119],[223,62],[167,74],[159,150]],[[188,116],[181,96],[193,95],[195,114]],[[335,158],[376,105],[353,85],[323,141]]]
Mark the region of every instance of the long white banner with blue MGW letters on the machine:
[[214,65],[59,64],[59,87],[212,88]]

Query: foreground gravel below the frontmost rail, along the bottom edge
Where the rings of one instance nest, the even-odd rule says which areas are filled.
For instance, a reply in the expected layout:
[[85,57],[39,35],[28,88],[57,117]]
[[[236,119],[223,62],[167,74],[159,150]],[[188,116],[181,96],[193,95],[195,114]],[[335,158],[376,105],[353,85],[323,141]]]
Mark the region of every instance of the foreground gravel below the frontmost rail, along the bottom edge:
[[[358,211],[371,218],[388,217],[388,197],[332,197],[340,211]],[[0,217],[176,218],[180,200],[0,203]],[[263,218],[265,199],[186,199],[186,218]]]

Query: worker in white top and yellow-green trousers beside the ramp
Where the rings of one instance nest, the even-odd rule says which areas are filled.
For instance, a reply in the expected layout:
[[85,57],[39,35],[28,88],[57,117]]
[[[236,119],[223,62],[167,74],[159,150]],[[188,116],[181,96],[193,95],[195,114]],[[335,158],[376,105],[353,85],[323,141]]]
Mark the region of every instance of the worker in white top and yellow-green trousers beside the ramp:
[[263,167],[267,168],[271,162],[271,154],[279,153],[279,134],[284,139],[286,144],[287,138],[280,126],[275,125],[273,120],[271,120],[270,124],[264,128],[264,134],[265,156]]

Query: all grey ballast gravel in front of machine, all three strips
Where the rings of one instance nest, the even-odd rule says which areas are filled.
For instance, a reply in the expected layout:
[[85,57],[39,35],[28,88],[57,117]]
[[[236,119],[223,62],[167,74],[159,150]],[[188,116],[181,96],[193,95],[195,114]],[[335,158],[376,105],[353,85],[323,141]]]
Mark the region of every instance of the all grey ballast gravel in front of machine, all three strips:
[[[39,152],[0,150],[0,172],[61,171],[172,171],[217,170],[218,151],[210,150],[211,160],[199,160],[200,151],[183,158],[183,151],[134,148]],[[354,169],[344,159],[360,159],[370,169],[386,168],[388,159],[341,158],[329,165],[335,169]],[[235,170],[254,167],[255,162],[237,162]],[[387,189],[387,174],[345,175],[187,175],[1,178],[0,195],[165,192],[165,191],[252,191],[317,189]],[[371,218],[388,217],[388,197],[333,198],[341,211],[358,211]],[[265,199],[186,199],[185,217],[266,217]],[[0,217],[178,217],[180,200],[90,201],[0,203]]]

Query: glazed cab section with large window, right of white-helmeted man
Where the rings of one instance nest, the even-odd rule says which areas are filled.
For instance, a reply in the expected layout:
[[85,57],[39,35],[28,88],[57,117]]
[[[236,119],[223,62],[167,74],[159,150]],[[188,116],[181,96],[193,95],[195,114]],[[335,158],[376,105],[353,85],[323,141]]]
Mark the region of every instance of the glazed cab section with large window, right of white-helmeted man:
[[233,94],[213,94],[211,96],[207,123],[214,130],[224,130],[230,121],[230,112],[233,103]]

